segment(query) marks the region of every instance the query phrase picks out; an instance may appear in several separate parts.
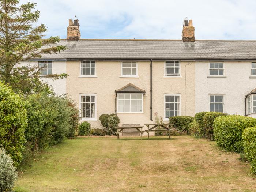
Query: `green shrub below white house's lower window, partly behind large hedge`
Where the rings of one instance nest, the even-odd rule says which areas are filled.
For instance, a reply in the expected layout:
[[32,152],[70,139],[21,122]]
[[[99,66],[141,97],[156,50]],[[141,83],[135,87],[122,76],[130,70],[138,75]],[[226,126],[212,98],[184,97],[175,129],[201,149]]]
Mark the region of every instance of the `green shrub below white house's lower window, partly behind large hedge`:
[[203,116],[203,129],[201,129],[202,136],[209,140],[214,140],[213,122],[219,116],[227,115],[221,112],[208,112]]

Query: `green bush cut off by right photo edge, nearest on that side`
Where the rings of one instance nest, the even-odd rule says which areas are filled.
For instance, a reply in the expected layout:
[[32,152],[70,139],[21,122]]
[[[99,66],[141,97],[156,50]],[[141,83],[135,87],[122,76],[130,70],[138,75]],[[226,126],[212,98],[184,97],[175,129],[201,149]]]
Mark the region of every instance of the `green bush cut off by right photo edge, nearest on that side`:
[[244,152],[251,162],[251,170],[256,174],[256,127],[246,128],[242,133]]

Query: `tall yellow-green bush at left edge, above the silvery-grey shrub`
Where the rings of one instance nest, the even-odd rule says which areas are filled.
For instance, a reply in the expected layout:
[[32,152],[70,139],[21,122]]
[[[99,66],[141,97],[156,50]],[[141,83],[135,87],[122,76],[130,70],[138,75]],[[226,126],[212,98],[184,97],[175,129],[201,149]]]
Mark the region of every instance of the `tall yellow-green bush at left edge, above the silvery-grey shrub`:
[[15,166],[22,160],[26,127],[27,112],[23,99],[0,82],[0,147],[5,148]]

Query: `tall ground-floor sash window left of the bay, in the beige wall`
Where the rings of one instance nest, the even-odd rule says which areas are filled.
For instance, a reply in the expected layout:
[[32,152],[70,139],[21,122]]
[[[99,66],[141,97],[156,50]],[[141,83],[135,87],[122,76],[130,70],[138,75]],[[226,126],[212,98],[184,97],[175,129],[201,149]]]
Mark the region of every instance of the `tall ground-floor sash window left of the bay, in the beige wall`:
[[80,94],[82,120],[96,119],[96,94]]

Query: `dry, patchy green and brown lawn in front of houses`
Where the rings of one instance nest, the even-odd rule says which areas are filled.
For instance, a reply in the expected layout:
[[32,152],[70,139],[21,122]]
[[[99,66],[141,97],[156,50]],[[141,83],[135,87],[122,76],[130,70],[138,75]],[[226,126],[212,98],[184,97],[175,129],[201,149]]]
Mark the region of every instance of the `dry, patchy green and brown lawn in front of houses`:
[[79,137],[36,155],[15,191],[256,191],[239,157],[191,136]]

